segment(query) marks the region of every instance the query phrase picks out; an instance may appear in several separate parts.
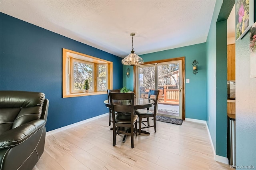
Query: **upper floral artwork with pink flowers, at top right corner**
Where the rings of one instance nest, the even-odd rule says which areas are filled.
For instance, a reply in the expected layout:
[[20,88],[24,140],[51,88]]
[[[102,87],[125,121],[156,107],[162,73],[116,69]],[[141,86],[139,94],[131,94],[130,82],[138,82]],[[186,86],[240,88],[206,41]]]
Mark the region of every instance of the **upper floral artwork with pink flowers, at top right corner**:
[[240,40],[254,23],[254,0],[237,0],[236,40]]

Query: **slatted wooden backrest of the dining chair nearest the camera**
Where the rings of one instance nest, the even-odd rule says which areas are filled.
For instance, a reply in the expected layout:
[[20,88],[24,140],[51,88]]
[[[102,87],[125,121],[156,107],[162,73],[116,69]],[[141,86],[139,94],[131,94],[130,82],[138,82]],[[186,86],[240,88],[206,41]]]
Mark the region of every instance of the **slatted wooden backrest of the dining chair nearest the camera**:
[[[133,122],[134,115],[134,92],[129,93],[114,93],[110,92],[110,104],[113,113],[131,113],[131,122]],[[113,123],[115,120],[115,114],[113,116]]]

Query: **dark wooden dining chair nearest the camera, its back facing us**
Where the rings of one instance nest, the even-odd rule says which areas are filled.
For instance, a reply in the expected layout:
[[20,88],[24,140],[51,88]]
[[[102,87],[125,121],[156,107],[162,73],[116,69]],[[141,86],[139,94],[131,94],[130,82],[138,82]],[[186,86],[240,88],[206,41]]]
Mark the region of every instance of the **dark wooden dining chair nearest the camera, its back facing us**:
[[[110,104],[112,113],[126,112],[129,114],[112,114],[113,146],[116,146],[116,134],[131,136],[131,147],[134,148],[134,134],[137,136],[137,118],[134,114],[134,92],[114,93],[110,92]],[[120,128],[123,127],[123,128]],[[128,128],[128,129],[127,129]]]

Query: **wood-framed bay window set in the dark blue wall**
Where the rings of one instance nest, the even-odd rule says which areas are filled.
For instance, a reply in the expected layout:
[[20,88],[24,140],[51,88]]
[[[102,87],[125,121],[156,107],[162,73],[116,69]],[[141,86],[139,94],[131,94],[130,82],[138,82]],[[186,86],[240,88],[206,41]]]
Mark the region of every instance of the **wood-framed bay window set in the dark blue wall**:
[[[84,80],[89,93],[84,93]],[[63,48],[63,97],[106,94],[112,89],[112,62]]]

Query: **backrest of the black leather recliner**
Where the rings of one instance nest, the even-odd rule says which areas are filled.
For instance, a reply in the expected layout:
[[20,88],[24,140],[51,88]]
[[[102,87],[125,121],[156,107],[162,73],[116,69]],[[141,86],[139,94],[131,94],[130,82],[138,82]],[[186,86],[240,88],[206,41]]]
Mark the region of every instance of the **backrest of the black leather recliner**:
[[49,103],[44,93],[30,91],[0,91],[0,93],[0,133],[32,120],[46,121]]

